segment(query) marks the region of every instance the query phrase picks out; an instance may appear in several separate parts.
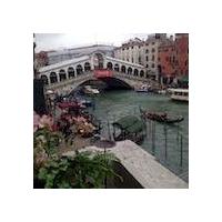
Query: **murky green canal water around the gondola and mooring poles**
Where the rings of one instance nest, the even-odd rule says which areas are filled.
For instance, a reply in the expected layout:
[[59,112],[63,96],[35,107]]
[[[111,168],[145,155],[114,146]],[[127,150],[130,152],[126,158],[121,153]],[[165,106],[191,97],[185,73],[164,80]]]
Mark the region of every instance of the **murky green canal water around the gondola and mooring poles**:
[[[173,125],[147,121],[142,148],[164,167],[189,181],[189,105],[176,103],[168,95],[134,92],[130,90],[105,91],[94,97],[93,114],[102,123],[102,135],[112,134],[112,122],[132,114],[140,118],[139,108],[183,115],[184,120]],[[111,132],[109,132],[111,131]]]

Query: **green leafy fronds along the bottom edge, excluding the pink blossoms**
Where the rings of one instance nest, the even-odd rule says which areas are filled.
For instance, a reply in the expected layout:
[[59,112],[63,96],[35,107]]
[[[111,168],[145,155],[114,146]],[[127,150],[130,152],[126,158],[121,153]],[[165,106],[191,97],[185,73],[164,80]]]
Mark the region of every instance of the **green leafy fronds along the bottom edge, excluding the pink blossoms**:
[[110,153],[77,152],[74,157],[50,160],[38,178],[44,188],[104,188],[105,178],[120,178],[112,168],[118,159]]

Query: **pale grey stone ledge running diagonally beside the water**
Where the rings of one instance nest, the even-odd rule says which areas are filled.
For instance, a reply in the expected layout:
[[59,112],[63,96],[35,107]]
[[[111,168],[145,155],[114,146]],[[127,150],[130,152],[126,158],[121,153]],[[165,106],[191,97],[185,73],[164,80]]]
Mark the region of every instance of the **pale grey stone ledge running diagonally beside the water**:
[[[101,148],[87,147],[83,150],[101,151]],[[188,189],[189,184],[160,164],[153,155],[130,140],[117,142],[107,149],[120,159],[121,164],[147,189]],[[67,153],[68,154],[68,153]],[[71,153],[70,153],[71,154]]]

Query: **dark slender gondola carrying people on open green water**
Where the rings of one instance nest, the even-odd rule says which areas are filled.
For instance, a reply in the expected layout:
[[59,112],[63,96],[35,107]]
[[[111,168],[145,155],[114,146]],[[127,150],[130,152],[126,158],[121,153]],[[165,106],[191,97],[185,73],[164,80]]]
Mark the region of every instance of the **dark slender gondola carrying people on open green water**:
[[160,123],[172,124],[184,120],[182,115],[169,115],[165,112],[150,112],[142,109],[140,109],[140,112],[143,119],[153,120]]

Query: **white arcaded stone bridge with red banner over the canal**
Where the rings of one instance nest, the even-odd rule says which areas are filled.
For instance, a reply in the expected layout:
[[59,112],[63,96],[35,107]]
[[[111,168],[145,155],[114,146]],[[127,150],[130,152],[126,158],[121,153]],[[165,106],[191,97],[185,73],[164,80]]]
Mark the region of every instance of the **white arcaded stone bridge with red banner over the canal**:
[[40,68],[39,78],[44,81],[47,90],[59,93],[70,92],[97,79],[115,79],[130,88],[148,81],[143,65],[107,57],[101,52]]

